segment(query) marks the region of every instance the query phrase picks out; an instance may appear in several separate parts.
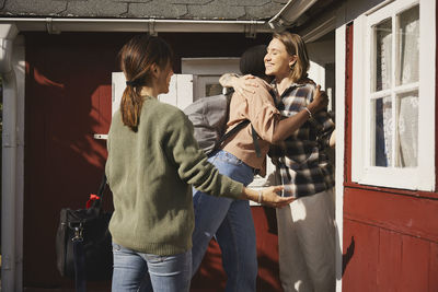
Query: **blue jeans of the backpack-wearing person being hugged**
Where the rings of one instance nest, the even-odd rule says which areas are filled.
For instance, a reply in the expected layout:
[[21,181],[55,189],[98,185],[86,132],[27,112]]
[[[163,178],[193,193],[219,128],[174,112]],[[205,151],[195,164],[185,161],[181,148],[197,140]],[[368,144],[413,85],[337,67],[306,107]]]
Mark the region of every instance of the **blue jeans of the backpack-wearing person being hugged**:
[[[254,170],[223,150],[209,157],[219,173],[247,186]],[[193,190],[195,230],[193,233],[193,273],[197,271],[214,235],[222,252],[222,265],[228,276],[226,291],[255,291],[257,253],[250,203],[206,195]]]

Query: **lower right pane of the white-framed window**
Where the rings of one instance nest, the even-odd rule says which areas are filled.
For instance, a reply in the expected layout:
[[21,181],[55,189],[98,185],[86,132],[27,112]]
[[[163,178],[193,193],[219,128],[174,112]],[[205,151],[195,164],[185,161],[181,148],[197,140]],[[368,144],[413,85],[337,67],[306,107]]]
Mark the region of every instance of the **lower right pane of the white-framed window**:
[[418,164],[418,91],[397,95],[397,166]]

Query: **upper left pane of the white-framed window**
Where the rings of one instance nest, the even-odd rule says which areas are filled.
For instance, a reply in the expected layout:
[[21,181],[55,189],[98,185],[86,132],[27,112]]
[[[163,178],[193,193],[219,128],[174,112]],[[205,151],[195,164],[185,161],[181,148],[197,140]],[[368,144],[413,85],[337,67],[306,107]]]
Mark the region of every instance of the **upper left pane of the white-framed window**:
[[391,48],[392,24],[391,19],[374,26],[376,39],[376,80],[373,91],[391,87]]

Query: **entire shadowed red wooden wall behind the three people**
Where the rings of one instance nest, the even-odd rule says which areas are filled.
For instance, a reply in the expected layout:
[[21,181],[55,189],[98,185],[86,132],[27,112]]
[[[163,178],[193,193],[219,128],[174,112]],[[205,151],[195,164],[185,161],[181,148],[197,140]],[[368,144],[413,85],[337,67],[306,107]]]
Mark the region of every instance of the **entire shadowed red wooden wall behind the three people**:
[[[55,264],[55,233],[64,207],[83,208],[96,190],[106,159],[103,140],[111,124],[111,72],[119,71],[116,56],[131,36],[126,33],[25,33],[25,175],[24,175],[24,287],[72,288]],[[239,57],[249,46],[266,44],[244,34],[162,34],[175,50],[175,72],[181,57]],[[111,202],[107,203],[111,209]],[[270,210],[272,212],[272,210]],[[268,210],[269,213],[269,210]],[[260,260],[260,291],[280,291],[277,236],[263,208],[253,208]],[[274,215],[274,217],[273,217]],[[268,220],[269,218],[269,220]],[[275,222],[274,222],[275,224]],[[270,229],[269,229],[270,227]],[[211,245],[194,291],[224,285],[218,248]],[[91,291],[107,291],[94,283]],[[93,290],[94,289],[94,290]]]

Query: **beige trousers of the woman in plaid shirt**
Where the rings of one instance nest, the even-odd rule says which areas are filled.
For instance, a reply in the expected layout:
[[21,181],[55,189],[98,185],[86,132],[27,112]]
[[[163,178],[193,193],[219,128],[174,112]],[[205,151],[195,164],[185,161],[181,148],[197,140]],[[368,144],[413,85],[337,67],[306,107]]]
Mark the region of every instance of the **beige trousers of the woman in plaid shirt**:
[[335,291],[334,189],[277,209],[277,223],[285,292]]

